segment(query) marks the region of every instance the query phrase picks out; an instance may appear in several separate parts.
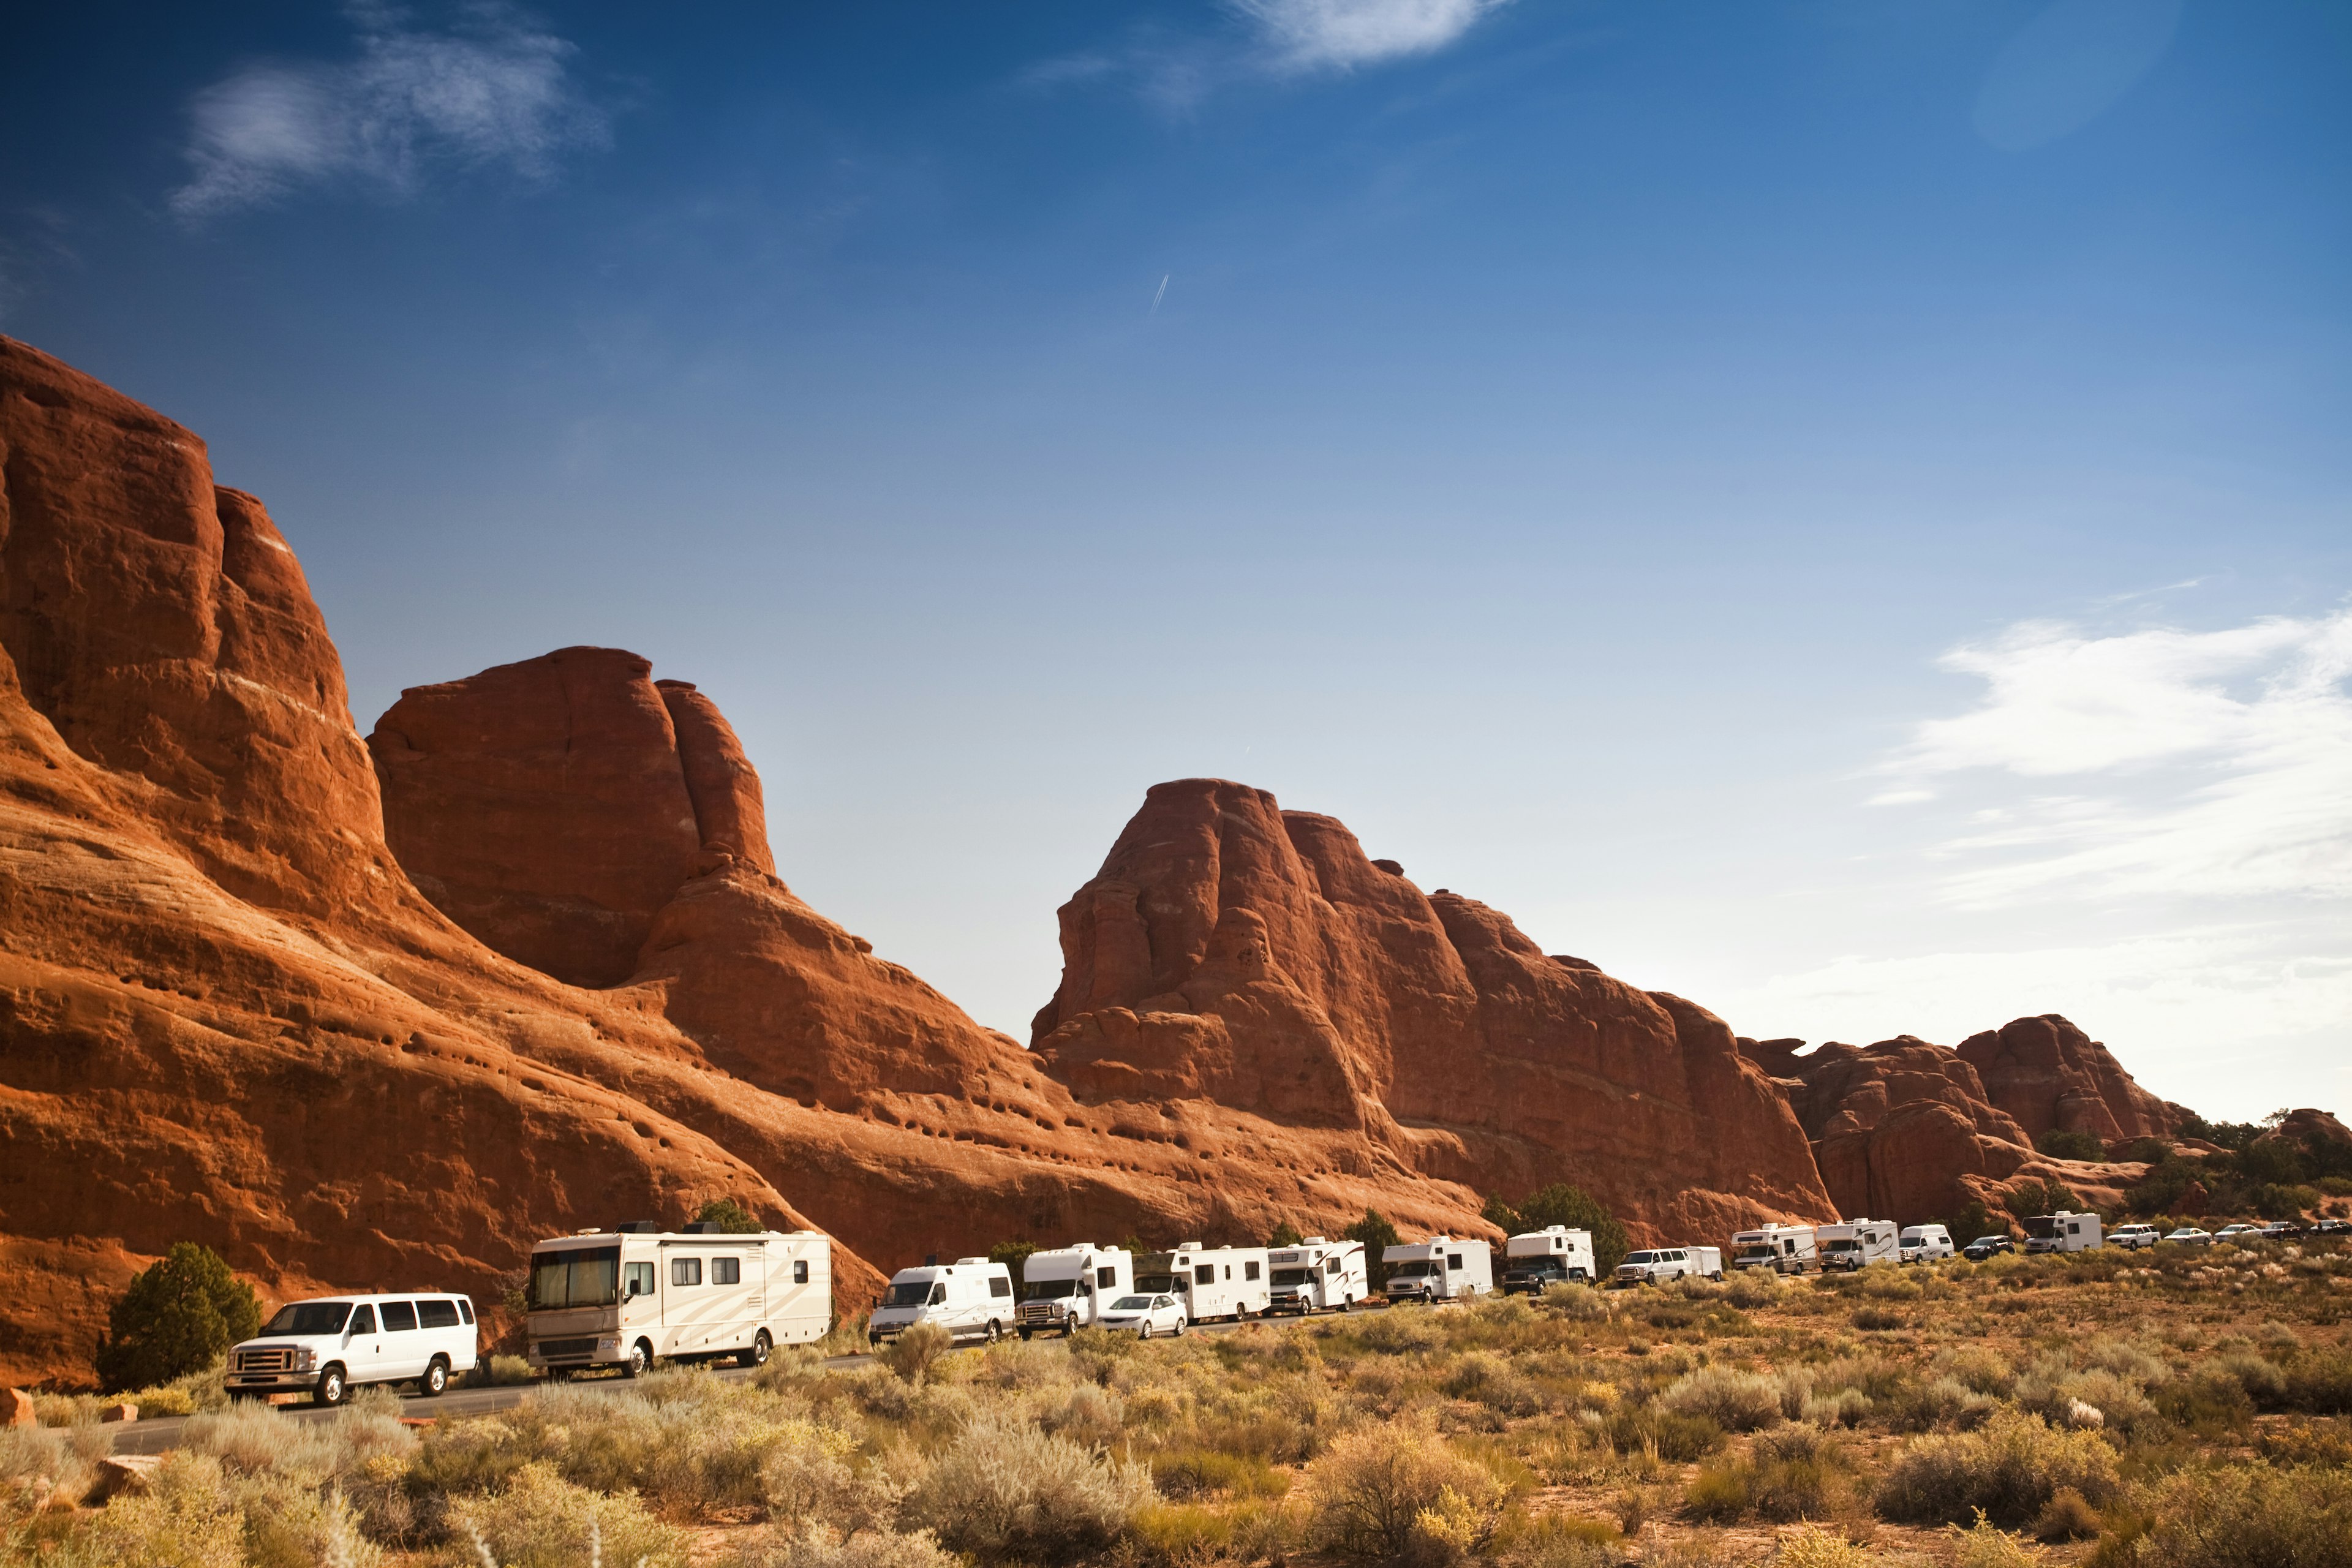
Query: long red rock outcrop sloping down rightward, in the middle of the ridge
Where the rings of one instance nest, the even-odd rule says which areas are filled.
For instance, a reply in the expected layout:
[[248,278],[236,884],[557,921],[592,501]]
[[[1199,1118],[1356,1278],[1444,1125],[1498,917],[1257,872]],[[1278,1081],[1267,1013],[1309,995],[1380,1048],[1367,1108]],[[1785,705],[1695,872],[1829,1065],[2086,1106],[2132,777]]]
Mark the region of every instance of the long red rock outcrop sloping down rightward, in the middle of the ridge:
[[1642,1237],[1830,1218],[1719,1018],[1548,957],[1263,790],[1152,788],[1061,945],[1033,1044],[1091,1103],[1204,1095],[1479,1192],[1573,1180]]

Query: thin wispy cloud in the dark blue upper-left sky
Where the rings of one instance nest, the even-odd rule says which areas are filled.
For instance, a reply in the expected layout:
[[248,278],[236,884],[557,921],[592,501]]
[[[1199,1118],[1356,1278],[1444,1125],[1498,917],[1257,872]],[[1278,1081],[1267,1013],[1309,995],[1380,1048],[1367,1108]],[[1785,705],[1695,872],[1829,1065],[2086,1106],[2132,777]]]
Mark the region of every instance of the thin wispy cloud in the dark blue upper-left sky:
[[572,78],[574,45],[517,12],[477,7],[452,31],[383,7],[350,19],[355,59],[256,63],[195,96],[179,216],[301,188],[407,195],[440,167],[546,179],[560,153],[604,141],[604,115]]

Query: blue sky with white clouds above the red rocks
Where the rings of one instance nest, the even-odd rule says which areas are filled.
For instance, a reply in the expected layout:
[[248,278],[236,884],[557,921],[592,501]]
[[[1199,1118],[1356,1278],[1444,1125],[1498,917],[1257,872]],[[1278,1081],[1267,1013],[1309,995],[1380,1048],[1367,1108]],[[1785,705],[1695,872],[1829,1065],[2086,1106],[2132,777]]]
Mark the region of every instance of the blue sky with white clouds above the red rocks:
[[1748,1034],[2352,1100],[2352,12],[49,7],[0,331],[630,646],[983,1023],[1162,778]]

